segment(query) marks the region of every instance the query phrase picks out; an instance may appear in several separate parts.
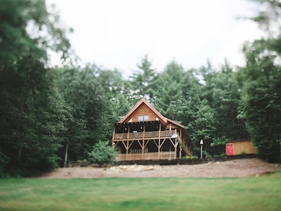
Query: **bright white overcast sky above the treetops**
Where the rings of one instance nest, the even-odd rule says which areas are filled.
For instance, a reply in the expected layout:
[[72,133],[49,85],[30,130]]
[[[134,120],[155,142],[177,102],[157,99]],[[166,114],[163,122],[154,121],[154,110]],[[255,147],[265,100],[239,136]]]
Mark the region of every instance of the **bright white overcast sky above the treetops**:
[[[185,69],[209,59],[243,65],[244,41],[261,37],[247,0],[46,0],[55,4],[72,48],[84,63],[131,75],[145,54],[157,71],[176,60]],[[58,65],[58,60],[53,59]]]

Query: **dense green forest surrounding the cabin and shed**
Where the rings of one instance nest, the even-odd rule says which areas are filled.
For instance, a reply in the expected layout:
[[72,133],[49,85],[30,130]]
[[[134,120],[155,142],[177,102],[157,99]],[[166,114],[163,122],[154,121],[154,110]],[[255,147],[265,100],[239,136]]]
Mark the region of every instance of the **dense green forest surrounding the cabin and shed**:
[[[226,60],[220,68],[185,70],[171,60],[155,70],[148,55],[129,77],[95,63],[75,65],[71,30],[60,27],[44,0],[0,3],[2,177],[63,166],[66,153],[68,162],[87,159],[141,98],[185,125],[195,144],[204,139],[204,156],[225,153],[227,140],[250,138],[262,158],[280,161],[280,1],[259,1],[263,10],[251,20],[267,36],[244,44],[243,67]],[[60,54],[63,68],[50,68],[50,51]]]

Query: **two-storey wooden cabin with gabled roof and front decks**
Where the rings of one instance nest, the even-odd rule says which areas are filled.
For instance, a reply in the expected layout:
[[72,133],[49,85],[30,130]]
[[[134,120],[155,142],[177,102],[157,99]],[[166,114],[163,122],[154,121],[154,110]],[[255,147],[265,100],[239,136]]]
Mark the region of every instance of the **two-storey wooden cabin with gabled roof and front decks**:
[[119,160],[192,157],[194,146],[182,124],[161,115],[144,98],[114,125],[112,135]]

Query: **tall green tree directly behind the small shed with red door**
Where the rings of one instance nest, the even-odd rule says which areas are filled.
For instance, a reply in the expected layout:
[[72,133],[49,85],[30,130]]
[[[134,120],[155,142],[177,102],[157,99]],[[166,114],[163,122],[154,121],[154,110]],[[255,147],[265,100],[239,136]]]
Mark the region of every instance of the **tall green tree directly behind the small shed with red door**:
[[241,91],[227,60],[219,70],[205,72],[204,83],[203,97],[214,113],[211,146],[218,149],[213,153],[219,153],[224,151],[226,141],[249,138],[244,120],[237,118]]

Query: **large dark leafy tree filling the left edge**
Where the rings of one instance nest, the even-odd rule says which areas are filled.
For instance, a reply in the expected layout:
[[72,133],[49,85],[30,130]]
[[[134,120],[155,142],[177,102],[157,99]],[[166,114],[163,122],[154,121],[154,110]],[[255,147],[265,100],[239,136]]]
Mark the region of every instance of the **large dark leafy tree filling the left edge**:
[[65,58],[70,43],[45,1],[0,3],[0,160],[15,174],[47,169],[56,164],[65,114],[46,52]]

